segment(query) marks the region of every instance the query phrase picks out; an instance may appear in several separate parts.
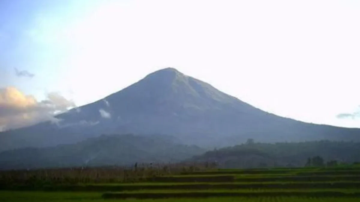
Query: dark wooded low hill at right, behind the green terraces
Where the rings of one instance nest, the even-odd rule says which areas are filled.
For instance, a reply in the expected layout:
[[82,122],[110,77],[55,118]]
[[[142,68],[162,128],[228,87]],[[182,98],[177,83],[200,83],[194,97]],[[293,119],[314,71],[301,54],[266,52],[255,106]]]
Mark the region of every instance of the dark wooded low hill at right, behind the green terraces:
[[310,157],[327,161],[360,162],[360,143],[314,141],[298,143],[247,143],[208,151],[191,161],[217,161],[223,168],[304,166]]

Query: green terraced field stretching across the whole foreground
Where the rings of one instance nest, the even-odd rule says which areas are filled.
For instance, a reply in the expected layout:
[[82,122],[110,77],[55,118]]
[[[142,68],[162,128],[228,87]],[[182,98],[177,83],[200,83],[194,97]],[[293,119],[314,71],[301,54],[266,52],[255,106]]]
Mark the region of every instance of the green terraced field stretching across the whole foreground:
[[[0,201],[360,201],[360,167],[247,170],[172,168],[167,170],[168,175],[163,170],[110,170],[108,175],[101,173],[106,180],[97,180],[96,176],[99,175],[90,175],[89,178],[95,177],[89,180],[77,179],[79,175],[66,170],[66,180],[55,178],[53,181],[53,178],[46,178],[45,170],[9,171],[2,173],[3,177],[8,175],[5,177],[7,181],[0,181]],[[76,172],[80,173],[81,170]],[[88,174],[92,172],[86,171]],[[109,180],[109,176],[113,175],[111,172],[120,173],[127,180],[113,183]],[[36,173],[41,173],[41,177],[33,176]]]

